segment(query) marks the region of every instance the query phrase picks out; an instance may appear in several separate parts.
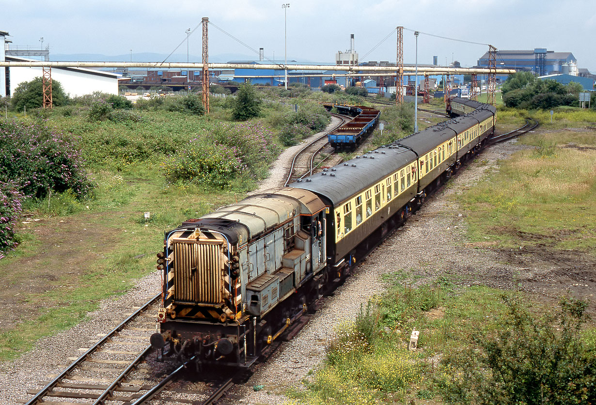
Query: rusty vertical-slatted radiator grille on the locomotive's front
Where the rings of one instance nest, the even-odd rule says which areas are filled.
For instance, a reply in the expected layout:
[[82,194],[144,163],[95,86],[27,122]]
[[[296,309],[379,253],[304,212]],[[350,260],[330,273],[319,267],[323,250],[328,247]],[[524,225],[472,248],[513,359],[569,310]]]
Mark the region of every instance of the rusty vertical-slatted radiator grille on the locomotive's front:
[[174,300],[179,303],[222,303],[220,241],[174,241]]

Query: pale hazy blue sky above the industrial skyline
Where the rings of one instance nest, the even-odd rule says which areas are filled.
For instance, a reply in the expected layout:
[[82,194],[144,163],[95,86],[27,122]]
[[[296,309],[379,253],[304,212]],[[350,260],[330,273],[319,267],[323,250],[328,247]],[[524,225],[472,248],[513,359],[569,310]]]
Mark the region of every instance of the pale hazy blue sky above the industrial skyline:
[[[498,49],[548,48],[573,52],[579,67],[596,71],[592,46],[596,35],[593,0],[290,0],[287,8],[288,59],[327,62],[335,52],[349,48],[356,36],[361,61],[396,59],[395,27],[479,43]],[[14,45],[50,46],[51,54],[123,55],[156,52],[169,54],[194,29],[201,17],[254,49],[265,48],[268,58],[283,60],[284,10],[281,1],[155,0],[0,0],[0,30],[8,31]],[[383,38],[390,35],[374,51]],[[191,35],[190,54],[201,55],[200,27]],[[415,40],[404,32],[404,61],[414,63]],[[455,42],[421,35],[418,61],[473,66],[488,50],[486,45]],[[371,51],[371,52],[370,52]],[[254,55],[214,26],[209,28],[209,52]],[[186,54],[186,43],[176,53]],[[365,56],[365,54],[368,54]],[[196,60],[195,60],[196,61]]]

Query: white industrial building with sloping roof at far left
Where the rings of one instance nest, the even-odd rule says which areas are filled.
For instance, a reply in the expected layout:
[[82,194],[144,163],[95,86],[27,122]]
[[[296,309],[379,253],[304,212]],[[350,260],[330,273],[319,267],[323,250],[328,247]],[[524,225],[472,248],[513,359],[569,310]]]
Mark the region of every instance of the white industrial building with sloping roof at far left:
[[[7,55],[11,42],[8,33],[0,31],[0,60],[2,61],[35,61],[33,59]],[[35,77],[42,77],[41,67],[2,67],[0,68],[0,96],[10,96],[20,83],[29,82]],[[71,97],[91,94],[100,91],[118,94],[118,78],[120,74],[79,67],[52,68],[52,80],[60,82],[64,92]]]

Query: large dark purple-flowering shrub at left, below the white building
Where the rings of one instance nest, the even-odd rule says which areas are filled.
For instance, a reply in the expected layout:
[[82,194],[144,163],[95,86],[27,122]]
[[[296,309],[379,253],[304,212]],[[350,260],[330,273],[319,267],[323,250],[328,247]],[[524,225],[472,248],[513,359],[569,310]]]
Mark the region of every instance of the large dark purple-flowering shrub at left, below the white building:
[[91,191],[73,139],[43,123],[0,121],[0,182],[12,181],[25,197],[44,198],[50,191]]

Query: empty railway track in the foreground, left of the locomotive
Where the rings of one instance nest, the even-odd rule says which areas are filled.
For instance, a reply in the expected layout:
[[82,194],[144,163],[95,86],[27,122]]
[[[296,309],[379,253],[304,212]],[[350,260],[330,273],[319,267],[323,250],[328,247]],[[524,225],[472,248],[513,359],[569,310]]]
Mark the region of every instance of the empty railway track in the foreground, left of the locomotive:
[[140,366],[153,351],[148,341],[160,298],[151,298],[91,347],[80,349],[85,353],[70,358],[70,366],[44,388],[29,392],[34,395],[26,404],[142,403],[142,392],[154,388]]

